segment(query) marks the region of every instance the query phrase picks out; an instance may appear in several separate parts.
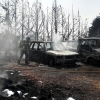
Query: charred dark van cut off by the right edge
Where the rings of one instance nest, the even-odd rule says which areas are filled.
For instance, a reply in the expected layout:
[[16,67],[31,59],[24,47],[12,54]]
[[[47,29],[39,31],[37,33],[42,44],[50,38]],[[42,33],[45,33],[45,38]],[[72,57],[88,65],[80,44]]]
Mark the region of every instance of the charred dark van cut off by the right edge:
[[100,61],[100,38],[81,38],[78,41],[77,51],[80,60],[90,65],[96,65]]

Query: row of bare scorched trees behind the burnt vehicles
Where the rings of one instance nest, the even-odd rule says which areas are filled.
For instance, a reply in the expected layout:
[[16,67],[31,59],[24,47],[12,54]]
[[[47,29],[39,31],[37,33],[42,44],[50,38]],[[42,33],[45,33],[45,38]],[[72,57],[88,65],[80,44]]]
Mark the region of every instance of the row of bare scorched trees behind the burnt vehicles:
[[19,40],[30,36],[31,40],[53,41],[59,35],[61,41],[77,40],[89,35],[88,20],[82,20],[79,10],[68,13],[57,1],[46,11],[38,0],[30,5],[28,0],[0,1],[0,49],[17,50]]

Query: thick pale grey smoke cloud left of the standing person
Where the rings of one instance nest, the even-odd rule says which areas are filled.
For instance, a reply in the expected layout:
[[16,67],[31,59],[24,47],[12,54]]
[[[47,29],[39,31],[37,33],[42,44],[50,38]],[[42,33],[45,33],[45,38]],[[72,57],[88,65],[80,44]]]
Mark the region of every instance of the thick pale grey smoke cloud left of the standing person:
[[18,55],[19,37],[11,33],[1,33],[0,37],[0,59],[11,59]]

